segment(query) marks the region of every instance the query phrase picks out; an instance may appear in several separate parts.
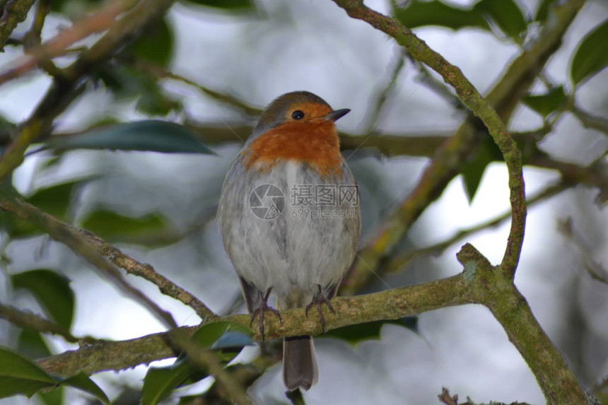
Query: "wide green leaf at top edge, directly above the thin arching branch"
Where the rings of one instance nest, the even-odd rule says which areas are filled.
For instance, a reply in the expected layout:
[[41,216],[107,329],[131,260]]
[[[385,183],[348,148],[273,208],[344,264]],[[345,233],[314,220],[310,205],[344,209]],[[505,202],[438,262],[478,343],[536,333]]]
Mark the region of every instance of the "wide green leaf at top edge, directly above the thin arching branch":
[[411,1],[405,8],[394,8],[394,16],[399,18],[407,28],[439,25],[452,30],[460,30],[465,27],[490,29],[481,13],[474,8],[452,7],[438,0]]

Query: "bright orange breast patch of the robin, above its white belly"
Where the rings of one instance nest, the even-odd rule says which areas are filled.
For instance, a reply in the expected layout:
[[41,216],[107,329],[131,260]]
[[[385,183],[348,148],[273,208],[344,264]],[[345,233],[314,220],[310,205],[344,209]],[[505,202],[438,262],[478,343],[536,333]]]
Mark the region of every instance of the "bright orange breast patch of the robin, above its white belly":
[[287,122],[259,136],[242,155],[247,169],[260,171],[297,160],[327,177],[339,175],[342,165],[336,127],[327,121]]

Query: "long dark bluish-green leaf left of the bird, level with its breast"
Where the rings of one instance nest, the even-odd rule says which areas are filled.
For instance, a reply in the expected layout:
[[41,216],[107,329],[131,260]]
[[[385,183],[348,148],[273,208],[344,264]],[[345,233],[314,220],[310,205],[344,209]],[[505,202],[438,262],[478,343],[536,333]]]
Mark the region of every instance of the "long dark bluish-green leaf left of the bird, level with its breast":
[[111,149],[215,154],[189,130],[173,122],[145,120],[51,137],[43,149]]

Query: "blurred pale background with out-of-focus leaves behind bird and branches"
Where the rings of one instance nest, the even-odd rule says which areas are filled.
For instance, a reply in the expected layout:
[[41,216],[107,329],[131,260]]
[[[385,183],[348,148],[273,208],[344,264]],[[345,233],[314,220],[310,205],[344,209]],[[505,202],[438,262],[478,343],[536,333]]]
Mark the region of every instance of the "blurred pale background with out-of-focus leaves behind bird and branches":
[[[101,123],[154,117],[187,124],[216,155],[42,151],[25,159],[14,172],[13,185],[41,209],[93,231],[137,261],[151,264],[211,310],[245,312],[238,303],[238,280],[223,250],[214,215],[223,177],[259,109],[283,93],[308,90],[334,109],[350,108],[351,113],[338,122],[339,131],[344,139],[363,136],[358,138],[361,140],[368,134],[370,139],[390,134],[433,141],[436,136],[452,135],[467,119],[467,112],[446,95],[450,92],[447,87],[438,90],[443,82],[438,75],[421,70],[404,57],[394,40],[349,18],[332,1],[228,2],[237,4],[236,8],[199,3],[203,4],[177,2],[162,21],[146,28],[144,40],[99,66],[83,93],[54,121],[52,132],[72,134]],[[467,11],[476,1],[443,3]],[[483,94],[539,33],[542,21],[535,20],[537,11],[548,3],[515,1],[526,20],[525,33],[519,36],[508,35],[505,26],[496,21],[486,27],[456,25],[457,29],[431,21],[414,24],[420,25],[414,32],[460,67]],[[71,18],[97,7],[85,0],[50,4],[43,41],[71,25]],[[381,13],[394,13],[388,1],[366,4]],[[416,2],[404,6],[412,4]],[[11,37],[28,33],[34,16],[35,8]],[[607,1],[587,1],[531,93],[542,95],[551,85],[563,85],[566,95],[575,93],[581,110],[605,120],[608,71],[585,78],[575,88],[571,65],[580,42],[607,18]],[[76,46],[88,46],[98,37],[88,37]],[[601,44],[607,52],[605,41]],[[0,70],[8,69],[22,55],[18,44],[7,45],[0,54]],[[54,59],[59,67],[72,61],[70,54]],[[37,70],[4,83],[0,88],[4,124],[28,119],[51,82],[47,73]],[[578,168],[594,162],[605,165],[607,134],[585,128],[566,109],[551,110],[543,117],[520,102],[508,127],[527,133],[542,129],[547,122],[551,131],[536,138],[540,139],[536,144],[551,159]],[[425,142],[421,140],[422,148],[430,144]],[[431,155],[418,151],[387,155],[366,147],[366,142],[344,151],[361,192],[361,247],[414,189]],[[602,168],[605,185],[607,171]],[[531,163],[524,174],[527,195],[534,196],[559,182],[562,173]],[[476,176],[478,187],[474,185]],[[508,211],[504,163],[487,161],[469,167],[467,179],[464,177],[467,175],[455,177],[428,206],[400,243],[399,253],[418,252]],[[588,389],[608,375],[608,286],[592,277],[596,271],[604,281],[608,278],[608,211],[602,210],[600,192],[607,191],[579,184],[530,206],[515,278],[539,323]],[[74,291],[74,335],[123,340],[164,330],[150,312],[124,298],[67,247],[35,230],[19,228],[16,219],[3,215],[8,228],[0,239],[2,303],[44,314],[47,309],[31,290],[15,288],[11,277],[48,269],[69,279]],[[416,254],[404,260],[399,271],[370,277],[358,292],[457,274],[462,269],[455,253],[464,242],[471,242],[498,264],[508,229],[509,221],[505,221],[467,235],[437,254]],[[180,325],[198,324],[191,308],[160,294],[141,278],[127,279],[170,311]],[[534,375],[486,308],[451,307],[423,313],[413,321],[409,329],[386,324],[376,339],[356,344],[335,337],[316,339],[320,382],[305,394],[307,404],[436,404],[441,387],[477,402],[544,403]],[[0,345],[17,348],[22,335],[21,329],[0,319]],[[77,347],[60,338],[43,339],[52,353]],[[256,353],[257,348],[247,348],[240,358],[245,361]],[[141,365],[122,372],[101,372],[93,380],[116,399],[141,389],[146,370]],[[210,384],[206,379],[180,389],[165,403],[177,404],[178,395],[203,392]],[[261,404],[285,404],[283,391],[280,364],[276,364],[250,392]],[[73,389],[66,389],[64,396],[66,404],[92,403],[86,394]],[[0,400],[2,405],[25,403],[47,402],[40,397]]]

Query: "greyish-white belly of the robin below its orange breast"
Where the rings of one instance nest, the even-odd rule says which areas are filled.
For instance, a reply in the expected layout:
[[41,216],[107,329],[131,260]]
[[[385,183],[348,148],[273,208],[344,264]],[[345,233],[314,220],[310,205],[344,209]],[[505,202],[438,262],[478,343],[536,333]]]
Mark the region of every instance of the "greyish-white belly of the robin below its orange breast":
[[[358,196],[339,201],[339,187],[352,190],[354,185],[346,165],[335,184],[327,184],[301,163],[283,163],[267,174],[254,175],[239,166],[226,178],[218,212],[224,244],[238,274],[259,291],[273,288],[278,298],[293,294],[296,288],[310,299],[318,286],[339,283],[353,262],[360,233]],[[262,209],[252,210],[259,200],[250,194],[262,184],[272,184],[283,193],[284,206],[278,216],[277,211],[264,211],[273,202],[281,209],[276,196],[266,196]],[[317,198],[315,185],[323,186],[325,192],[335,187],[334,204],[305,199],[310,186],[312,198]],[[331,202],[325,197],[317,202]],[[264,212],[270,219],[263,218]]]

